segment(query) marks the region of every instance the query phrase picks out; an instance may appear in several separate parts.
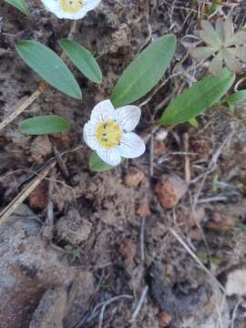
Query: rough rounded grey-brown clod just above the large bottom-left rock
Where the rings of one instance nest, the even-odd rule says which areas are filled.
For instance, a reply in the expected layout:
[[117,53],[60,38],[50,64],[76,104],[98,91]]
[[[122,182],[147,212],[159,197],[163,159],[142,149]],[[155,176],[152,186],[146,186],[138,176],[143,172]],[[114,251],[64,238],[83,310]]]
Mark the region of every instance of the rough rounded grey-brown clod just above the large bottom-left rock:
[[56,223],[56,233],[60,240],[78,245],[81,241],[87,241],[92,230],[89,220],[81,217],[77,210],[68,210],[67,215]]

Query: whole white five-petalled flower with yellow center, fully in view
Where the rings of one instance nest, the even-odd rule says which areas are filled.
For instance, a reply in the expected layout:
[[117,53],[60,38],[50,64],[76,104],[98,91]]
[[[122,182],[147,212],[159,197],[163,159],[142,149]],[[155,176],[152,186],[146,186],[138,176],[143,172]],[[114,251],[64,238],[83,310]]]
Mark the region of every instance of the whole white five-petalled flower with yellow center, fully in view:
[[121,158],[138,158],[145,152],[145,144],[132,130],[140,116],[137,106],[115,109],[110,100],[101,101],[85,124],[83,138],[87,146],[111,166],[117,166]]

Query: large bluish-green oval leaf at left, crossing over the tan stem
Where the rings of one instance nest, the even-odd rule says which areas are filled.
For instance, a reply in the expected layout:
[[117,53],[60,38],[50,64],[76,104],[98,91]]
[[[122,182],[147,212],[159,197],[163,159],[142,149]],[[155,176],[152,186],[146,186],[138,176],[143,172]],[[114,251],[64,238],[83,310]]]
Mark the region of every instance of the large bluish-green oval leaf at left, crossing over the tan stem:
[[81,99],[82,94],[77,80],[54,51],[32,40],[22,41],[15,47],[26,64],[48,84],[70,97]]

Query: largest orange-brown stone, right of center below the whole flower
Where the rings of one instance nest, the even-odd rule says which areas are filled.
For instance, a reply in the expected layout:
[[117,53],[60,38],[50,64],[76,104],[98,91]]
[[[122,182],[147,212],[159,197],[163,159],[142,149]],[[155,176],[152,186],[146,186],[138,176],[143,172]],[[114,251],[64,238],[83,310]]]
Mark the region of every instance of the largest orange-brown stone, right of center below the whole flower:
[[155,187],[159,202],[166,210],[172,209],[188,190],[187,183],[178,176],[165,174]]

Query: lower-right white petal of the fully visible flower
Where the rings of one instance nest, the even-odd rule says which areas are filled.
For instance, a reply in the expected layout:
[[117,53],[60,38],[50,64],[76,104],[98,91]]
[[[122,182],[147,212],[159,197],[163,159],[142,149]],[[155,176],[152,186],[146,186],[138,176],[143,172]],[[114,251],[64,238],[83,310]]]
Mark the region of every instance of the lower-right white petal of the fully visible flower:
[[136,133],[124,133],[120,145],[117,146],[118,153],[125,159],[135,159],[145,152],[145,143]]

